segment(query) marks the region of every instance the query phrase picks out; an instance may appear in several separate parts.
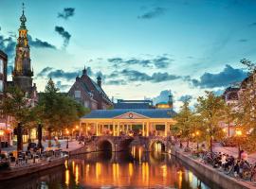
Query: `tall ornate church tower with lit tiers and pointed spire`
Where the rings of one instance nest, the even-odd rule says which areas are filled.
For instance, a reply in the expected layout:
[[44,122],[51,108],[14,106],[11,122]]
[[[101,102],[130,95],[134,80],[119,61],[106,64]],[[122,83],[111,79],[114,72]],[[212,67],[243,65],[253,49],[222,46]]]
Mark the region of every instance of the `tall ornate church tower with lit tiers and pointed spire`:
[[14,70],[12,71],[13,84],[20,87],[26,94],[30,95],[33,91],[32,80],[33,71],[30,64],[30,49],[27,41],[27,18],[24,14],[24,4],[22,16],[20,17],[21,26],[19,37],[16,44],[16,57]]

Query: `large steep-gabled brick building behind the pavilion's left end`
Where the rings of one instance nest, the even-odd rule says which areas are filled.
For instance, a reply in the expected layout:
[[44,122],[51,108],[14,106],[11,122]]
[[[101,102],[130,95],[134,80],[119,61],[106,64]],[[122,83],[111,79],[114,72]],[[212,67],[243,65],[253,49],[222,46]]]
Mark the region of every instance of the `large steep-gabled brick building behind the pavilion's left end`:
[[82,77],[76,77],[75,83],[67,94],[90,110],[105,110],[113,106],[101,88],[101,77],[97,77],[95,82],[87,75],[85,67],[82,70]]

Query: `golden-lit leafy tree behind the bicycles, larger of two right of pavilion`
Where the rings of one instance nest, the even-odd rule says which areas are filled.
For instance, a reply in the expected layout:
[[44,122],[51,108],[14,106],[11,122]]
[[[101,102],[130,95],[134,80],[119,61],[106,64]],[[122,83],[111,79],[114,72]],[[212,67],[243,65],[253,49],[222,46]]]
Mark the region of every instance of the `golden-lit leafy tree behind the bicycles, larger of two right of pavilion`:
[[204,135],[209,141],[210,151],[212,151],[212,139],[221,139],[224,134],[219,127],[223,120],[225,102],[221,96],[216,96],[212,92],[206,92],[206,96],[197,98],[196,112],[200,115],[203,127],[206,130]]

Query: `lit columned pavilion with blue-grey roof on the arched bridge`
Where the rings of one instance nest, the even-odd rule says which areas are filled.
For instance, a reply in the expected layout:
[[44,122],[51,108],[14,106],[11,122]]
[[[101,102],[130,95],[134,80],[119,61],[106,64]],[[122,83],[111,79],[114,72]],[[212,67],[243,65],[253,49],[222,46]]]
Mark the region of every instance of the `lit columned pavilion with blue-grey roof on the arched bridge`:
[[174,125],[171,109],[95,110],[80,119],[83,135],[168,136]]

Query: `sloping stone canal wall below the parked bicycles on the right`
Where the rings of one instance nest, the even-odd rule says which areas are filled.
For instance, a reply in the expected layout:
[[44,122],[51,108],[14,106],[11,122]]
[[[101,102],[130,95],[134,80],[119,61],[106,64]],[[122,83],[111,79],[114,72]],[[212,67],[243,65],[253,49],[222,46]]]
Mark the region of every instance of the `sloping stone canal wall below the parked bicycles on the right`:
[[194,160],[188,155],[177,151],[172,150],[172,155],[181,160],[182,163],[185,163],[187,166],[191,167],[196,173],[201,175],[202,177],[216,183],[220,186],[220,188],[225,189],[245,189],[245,188],[256,188],[252,185],[248,184],[245,181],[238,181],[230,176],[225,175],[225,173],[219,172],[213,167],[206,165],[204,163],[199,163],[198,160]]

